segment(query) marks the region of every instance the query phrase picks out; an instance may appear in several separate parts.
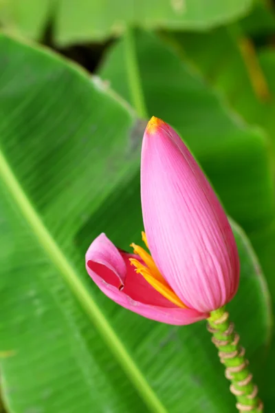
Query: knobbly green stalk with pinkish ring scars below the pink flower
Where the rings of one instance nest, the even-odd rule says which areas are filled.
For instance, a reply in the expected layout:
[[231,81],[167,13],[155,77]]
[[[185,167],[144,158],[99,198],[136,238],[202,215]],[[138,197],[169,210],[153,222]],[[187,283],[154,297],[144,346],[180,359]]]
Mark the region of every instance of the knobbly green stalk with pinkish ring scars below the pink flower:
[[236,396],[236,408],[239,412],[262,413],[263,403],[257,396],[258,388],[252,381],[245,350],[239,346],[239,335],[224,307],[212,311],[208,331],[212,333],[212,342],[225,366],[225,377],[231,381],[230,392]]

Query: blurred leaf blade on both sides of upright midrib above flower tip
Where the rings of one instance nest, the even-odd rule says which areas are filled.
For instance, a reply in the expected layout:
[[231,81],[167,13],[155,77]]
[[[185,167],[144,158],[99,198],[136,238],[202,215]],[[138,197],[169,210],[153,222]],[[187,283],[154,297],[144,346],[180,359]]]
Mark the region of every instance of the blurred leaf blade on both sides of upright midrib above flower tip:
[[[225,110],[219,96],[156,36],[137,32],[136,47],[148,114],[184,136],[234,220],[246,231],[267,226],[274,200],[263,132]],[[122,40],[107,54],[99,74],[130,100],[125,52]]]

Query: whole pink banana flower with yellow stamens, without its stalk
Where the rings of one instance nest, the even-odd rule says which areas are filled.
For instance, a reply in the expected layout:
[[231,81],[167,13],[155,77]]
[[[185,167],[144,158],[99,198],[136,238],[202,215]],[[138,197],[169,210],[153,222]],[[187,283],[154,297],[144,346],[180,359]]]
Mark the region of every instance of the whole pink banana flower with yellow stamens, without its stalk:
[[234,235],[184,142],[154,116],[142,142],[141,198],[151,255],[136,244],[126,253],[102,233],[87,251],[87,272],[107,297],[149,319],[206,319],[238,288]]

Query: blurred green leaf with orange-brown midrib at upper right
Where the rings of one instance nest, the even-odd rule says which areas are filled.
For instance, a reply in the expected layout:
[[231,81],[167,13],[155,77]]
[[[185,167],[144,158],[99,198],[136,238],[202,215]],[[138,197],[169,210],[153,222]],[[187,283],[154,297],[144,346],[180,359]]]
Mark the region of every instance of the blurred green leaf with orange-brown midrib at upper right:
[[[270,15],[270,18],[272,17],[273,15]],[[248,61],[245,61],[241,52],[244,39],[235,29],[219,28],[204,35],[178,33],[175,35],[177,50],[184,54],[185,59],[195,63],[207,81],[223,93],[234,110],[248,123],[265,129],[272,142],[270,155],[274,165],[274,51],[266,47],[257,53],[252,49],[248,51]],[[259,83],[259,76],[263,76],[267,94],[264,90],[260,95],[256,93],[248,65],[254,70],[254,81]]]

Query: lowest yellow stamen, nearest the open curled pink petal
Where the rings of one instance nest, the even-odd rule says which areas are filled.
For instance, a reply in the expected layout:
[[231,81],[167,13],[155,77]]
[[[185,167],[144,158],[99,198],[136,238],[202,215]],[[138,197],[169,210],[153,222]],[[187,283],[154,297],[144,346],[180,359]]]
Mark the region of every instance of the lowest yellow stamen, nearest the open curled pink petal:
[[174,293],[172,288],[167,284],[167,282],[164,281],[159,281],[159,279],[156,279],[150,271],[148,271],[148,268],[146,268],[144,265],[140,264],[139,261],[135,260],[135,258],[130,258],[129,259],[131,264],[135,266],[136,272],[141,274],[142,277],[146,279],[146,281],[153,287],[155,290],[163,295],[165,298],[167,298],[171,303],[175,304],[175,306],[180,307],[180,308],[186,308],[184,303],[177,297],[177,295]]

